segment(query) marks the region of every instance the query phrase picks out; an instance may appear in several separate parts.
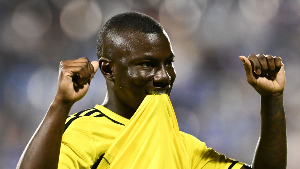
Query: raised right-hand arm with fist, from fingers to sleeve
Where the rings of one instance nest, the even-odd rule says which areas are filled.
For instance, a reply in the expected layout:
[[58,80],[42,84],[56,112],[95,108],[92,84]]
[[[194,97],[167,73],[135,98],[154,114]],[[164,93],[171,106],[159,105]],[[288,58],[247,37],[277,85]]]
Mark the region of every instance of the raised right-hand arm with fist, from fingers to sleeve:
[[247,81],[261,96],[261,132],[253,169],[286,168],[286,122],[283,108],[285,73],[281,58],[271,55],[240,56]]

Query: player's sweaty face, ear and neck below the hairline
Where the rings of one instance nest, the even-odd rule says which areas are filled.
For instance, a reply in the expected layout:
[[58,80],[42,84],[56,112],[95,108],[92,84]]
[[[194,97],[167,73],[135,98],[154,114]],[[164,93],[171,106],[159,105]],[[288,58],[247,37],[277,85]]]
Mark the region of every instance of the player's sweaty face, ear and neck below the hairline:
[[172,63],[174,53],[166,32],[120,36],[105,43],[117,51],[115,57],[108,60],[104,55],[99,60],[107,82],[107,96],[102,106],[129,119],[149,90],[167,89],[170,96],[176,78]]

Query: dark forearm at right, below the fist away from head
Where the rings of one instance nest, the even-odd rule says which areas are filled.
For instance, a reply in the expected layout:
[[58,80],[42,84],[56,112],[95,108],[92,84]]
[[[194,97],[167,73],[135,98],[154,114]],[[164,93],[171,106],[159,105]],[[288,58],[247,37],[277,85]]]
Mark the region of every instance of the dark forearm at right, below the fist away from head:
[[283,95],[261,97],[261,133],[252,167],[286,168],[286,122]]

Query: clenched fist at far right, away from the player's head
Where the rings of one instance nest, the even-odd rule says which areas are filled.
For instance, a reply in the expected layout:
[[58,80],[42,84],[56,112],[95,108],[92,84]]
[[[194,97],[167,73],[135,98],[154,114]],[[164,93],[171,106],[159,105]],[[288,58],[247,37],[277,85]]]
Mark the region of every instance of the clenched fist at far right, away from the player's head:
[[240,56],[247,75],[247,81],[261,96],[277,96],[283,93],[285,73],[278,56],[250,54]]

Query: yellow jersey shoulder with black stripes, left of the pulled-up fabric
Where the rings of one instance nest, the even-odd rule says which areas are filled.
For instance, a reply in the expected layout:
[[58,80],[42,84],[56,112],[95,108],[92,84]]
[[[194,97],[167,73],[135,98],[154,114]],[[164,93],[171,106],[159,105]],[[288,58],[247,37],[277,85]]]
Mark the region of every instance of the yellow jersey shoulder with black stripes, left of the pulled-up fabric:
[[96,108],[68,116],[61,140],[60,164],[76,166],[80,163],[86,167],[94,164],[124,127],[111,117]]

